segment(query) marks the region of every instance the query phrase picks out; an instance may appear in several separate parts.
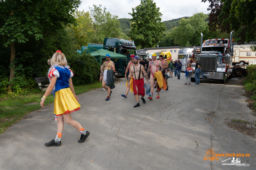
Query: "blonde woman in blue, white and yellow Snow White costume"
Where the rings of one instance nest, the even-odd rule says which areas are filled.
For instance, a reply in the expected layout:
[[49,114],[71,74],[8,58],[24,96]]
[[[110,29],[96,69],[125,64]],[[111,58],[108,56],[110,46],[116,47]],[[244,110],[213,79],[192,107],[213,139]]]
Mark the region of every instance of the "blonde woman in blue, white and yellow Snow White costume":
[[51,59],[51,70],[48,77],[51,79],[44,96],[41,99],[40,106],[44,108],[44,101],[46,97],[52,92],[55,86],[55,99],[54,99],[54,114],[57,116],[58,128],[56,138],[45,143],[47,147],[58,147],[61,145],[61,136],[65,123],[72,125],[74,128],[81,132],[81,137],[78,143],[84,142],[90,135],[90,132],[84,128],[77,121],[73,120],[71,113],[80,109],[78,98],[75,94],[74,86],[72,83],[72,76],[74,72],[70,70],[66,57],[60,50],[56,51]]

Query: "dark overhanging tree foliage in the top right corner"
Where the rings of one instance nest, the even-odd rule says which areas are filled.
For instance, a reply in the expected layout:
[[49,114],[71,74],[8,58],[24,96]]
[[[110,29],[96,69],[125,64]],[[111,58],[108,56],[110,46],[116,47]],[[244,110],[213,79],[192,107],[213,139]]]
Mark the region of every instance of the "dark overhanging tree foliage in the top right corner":
[[255,0],[202,0],[206,1],[210,2],[210,31],[221,29],[230,33],[235,30],[238,43],[256,40]]

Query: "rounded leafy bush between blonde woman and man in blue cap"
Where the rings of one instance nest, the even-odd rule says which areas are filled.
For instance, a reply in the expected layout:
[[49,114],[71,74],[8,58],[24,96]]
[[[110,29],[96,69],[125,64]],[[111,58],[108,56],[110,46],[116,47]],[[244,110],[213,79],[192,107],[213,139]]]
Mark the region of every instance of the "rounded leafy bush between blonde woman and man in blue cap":
[[73,84],[88,84],[98,78],[100,74],[100,64],[90,55],[90,53],[82,53],[82,55],[74,52],[70,56],[66,56],[70,69],[74,72],[72,78]]

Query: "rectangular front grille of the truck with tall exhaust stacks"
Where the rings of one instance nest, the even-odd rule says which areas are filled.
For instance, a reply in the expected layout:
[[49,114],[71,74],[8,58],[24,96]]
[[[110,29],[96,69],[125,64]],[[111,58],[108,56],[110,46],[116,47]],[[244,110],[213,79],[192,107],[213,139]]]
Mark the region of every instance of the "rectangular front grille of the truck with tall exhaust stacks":
[[218,64],[218,56],[214,54],[199,55],[199,64],[202,71],[216,71]]

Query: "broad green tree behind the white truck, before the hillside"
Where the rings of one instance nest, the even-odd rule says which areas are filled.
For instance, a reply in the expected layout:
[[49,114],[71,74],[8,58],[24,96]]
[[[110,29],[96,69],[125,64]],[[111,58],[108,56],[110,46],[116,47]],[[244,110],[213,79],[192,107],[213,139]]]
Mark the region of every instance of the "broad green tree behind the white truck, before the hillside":
[[208,34],[206,18],[207,15],[197,13],[188,19],[182,18],[179,20],[179,26],[174,27],[171,32],[174,43],[182,47],[200,45],[200,33]]

